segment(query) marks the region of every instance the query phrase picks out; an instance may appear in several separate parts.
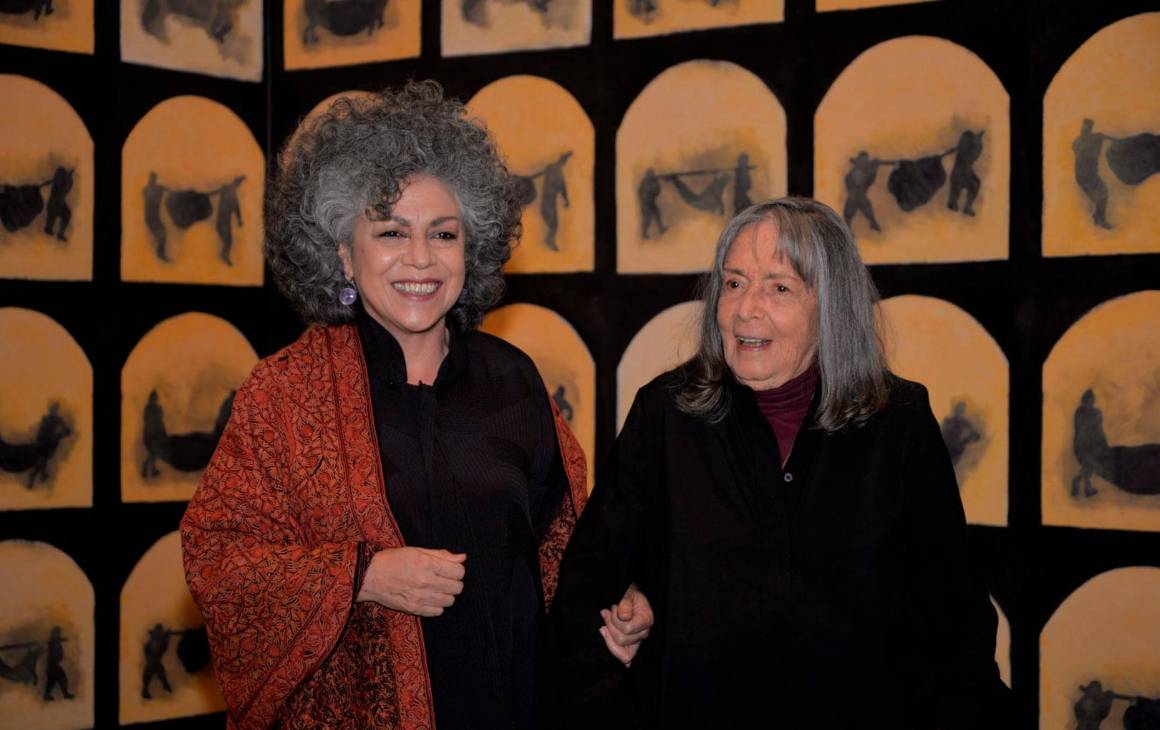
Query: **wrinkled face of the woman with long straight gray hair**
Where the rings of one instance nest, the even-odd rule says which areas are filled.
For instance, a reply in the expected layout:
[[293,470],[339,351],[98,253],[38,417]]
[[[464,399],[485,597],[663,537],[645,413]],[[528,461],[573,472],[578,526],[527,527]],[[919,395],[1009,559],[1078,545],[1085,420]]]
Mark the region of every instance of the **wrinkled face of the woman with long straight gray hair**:
[[725,256],[717,326],[725,362],[754,390],[769,390],[800,375],[818,349],[818,295],[777,254],[777,224],[741,229]]

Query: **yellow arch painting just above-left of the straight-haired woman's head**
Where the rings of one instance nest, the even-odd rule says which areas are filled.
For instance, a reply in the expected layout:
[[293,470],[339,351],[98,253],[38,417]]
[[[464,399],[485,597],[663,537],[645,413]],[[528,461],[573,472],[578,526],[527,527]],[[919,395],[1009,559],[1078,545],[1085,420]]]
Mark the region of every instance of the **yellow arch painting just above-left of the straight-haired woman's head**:
[[616,132],[617,270],[704,270],[726,221],[785,185],[785,111],[761,79],[727,62],[668,68]]

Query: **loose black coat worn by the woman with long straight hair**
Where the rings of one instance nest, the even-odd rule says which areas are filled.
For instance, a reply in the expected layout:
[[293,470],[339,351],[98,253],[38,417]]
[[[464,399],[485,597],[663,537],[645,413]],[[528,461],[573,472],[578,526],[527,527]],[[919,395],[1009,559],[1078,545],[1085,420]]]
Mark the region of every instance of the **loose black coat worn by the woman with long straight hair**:
[[[575,727],[994,728],[1006,687],[926,389],[890,380],[856,428],[810,428],[785,468],[752,390],[719,424],[637,393],[572,536],[550,684]],[[636,581],[657,623],[632,668],[597,612]],[[755,724],[760,723],[760,724]],[[596,724],[600,723],[600,724]]]

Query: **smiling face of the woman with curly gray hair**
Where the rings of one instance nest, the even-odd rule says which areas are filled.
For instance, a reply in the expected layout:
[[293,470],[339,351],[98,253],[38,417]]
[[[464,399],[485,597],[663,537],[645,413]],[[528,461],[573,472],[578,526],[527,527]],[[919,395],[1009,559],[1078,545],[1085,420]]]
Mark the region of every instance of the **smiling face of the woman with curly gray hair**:
[[403,344],[443,335],[447,313],[463,291],[464,236],[451,190],[437,178],[415,175],[390,218],[358,216],[350,245],[340,245],[339,255],[367,312]]

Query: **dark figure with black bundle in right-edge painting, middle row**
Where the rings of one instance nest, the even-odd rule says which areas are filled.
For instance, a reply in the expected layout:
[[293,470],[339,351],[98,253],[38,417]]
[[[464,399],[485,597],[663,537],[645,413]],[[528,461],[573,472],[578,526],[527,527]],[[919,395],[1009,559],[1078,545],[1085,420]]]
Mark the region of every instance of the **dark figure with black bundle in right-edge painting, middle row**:
[[1075,409],[1075,435],[1072,442],[1080,471],[1072,479],[1072,497],[1094,497],[1099,490],[1092,475],[1133,494],[1160,494],[1160,443],[1109,446],[1103,431],[1103,413],[1095,405],[1095,393],[1083,391]]

